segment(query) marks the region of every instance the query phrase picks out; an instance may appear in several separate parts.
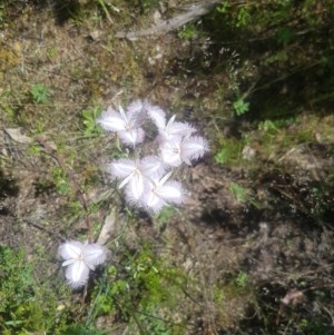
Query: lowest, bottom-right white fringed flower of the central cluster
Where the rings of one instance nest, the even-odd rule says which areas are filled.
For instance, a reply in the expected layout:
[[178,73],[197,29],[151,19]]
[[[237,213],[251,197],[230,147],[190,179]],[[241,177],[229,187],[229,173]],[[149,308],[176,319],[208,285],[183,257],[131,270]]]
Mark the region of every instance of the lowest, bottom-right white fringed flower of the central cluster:
[[153,178],[151,183],[147,184],[143,195],[143,206],[147,209],[158,213],[163,207],[171,204],[180,204],[184,200],[184,191],[181,184],[169,180],[171,171],[163,178]]

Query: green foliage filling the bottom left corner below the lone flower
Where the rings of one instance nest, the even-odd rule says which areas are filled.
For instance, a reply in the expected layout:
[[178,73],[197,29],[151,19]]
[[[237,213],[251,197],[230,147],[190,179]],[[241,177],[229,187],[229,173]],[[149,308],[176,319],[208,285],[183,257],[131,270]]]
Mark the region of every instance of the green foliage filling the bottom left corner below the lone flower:
[[65,284],[57,288],[41,285],[32,269],[21,249],[0,246],[0,334],[108,334],[73,321],[69,309],[75,311],[76,304],[70,308],[59,305],[59,297],[69,294]]

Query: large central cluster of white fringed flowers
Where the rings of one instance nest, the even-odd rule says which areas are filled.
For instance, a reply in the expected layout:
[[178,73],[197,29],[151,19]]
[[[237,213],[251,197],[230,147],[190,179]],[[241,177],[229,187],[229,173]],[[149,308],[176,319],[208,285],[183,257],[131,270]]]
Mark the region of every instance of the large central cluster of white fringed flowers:
[[196,129],[187,122],[166,120],[165,111],[147,101],[136,100],[126,110],[109,107],[97,120],[105,130],[116,132],[121,141],[135,148],[145,139],[144,124],[150,120],[158,130],[157,156],[141,159],[117,159],[108,165],[112,178],[121,179],[126,199],[137,207],[158,213],[164,206],[180,204],[184,190],[179,181],[169,180],[173,168],[183,162],[191,165],[208,151],[207,141],[194,135]]

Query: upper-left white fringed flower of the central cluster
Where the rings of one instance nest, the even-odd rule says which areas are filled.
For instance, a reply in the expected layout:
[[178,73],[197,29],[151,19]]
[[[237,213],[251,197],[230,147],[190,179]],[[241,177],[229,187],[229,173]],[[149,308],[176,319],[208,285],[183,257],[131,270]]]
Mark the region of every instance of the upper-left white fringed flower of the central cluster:
[[126,145],[135,146],[143,142],[145,132],[143,130],[141,121],[144,118],[143,110],[132,108],[125,112],[119,106],[119,112],[108,107],[97,120],[105,130],[117,132],[120,139]]

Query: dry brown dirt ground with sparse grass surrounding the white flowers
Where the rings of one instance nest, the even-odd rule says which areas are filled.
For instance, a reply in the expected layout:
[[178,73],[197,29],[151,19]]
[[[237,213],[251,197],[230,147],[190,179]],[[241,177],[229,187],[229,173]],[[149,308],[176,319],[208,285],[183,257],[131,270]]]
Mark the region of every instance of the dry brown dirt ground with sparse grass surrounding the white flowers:
[[[0,244],[22,247],[28,262],[39,260],[35,275],[43,282],[62,276],[59,244],[85,231],[77,190],[57,169],[57,158],[40,149],[41,137],[57,147],[88,203],[102,203],[91,218],[101,227],[112,220],[106,243],[116,248],[127,209],[104,173],[116,140],[85,132],[82,110],[146,98],[195,125],[210,142],[204,159],[179,171],[186,203],[163,223],[137,213],[121,247],[149,242],[194,279],[173,313],[186,315],[185,334],[334,334],[332,111],[303,109],[298,122],[275,134],[278,144],[266,155],[253,120],[232,120],[227,100],[233,80],[248,82],[258,68],[247,65],[246,75],[234,77],[232,50],[225,70],[212,71],[217,59],[209,43],[175,31],[116,37],[191,3],[169,2],[138,17],[116,1],[108,7],[112,22],[90,1],[19,1],[10,8],[11,21],[0,30]],[[217,82],[226,87],[226,101]],[[49,88],[41,104],[31,93],[35,85]],[[293,138],[307,124],[312,141],[281,145],[279,136]],[[253,136],[245,145],[250,156],[238,165],[218,164],[222,137],[243,132]],[[70,185],[63,193],[62,180]],[[245,197],[232,190],[235,184]],[[97,325],[109,322],[104,316]]]

